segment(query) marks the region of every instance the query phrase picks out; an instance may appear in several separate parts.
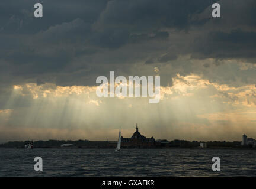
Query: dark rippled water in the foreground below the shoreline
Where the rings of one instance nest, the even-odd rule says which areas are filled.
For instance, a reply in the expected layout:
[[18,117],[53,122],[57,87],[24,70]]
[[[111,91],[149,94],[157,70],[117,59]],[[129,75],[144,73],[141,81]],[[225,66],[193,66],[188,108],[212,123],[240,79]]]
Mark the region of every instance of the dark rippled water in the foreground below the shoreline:
[[[213,149],[6,149],[0,177],[255,177],[256,151]],[[43,171],[34,171],[34,158]],[[220,171],[212,171],[212,158]]]

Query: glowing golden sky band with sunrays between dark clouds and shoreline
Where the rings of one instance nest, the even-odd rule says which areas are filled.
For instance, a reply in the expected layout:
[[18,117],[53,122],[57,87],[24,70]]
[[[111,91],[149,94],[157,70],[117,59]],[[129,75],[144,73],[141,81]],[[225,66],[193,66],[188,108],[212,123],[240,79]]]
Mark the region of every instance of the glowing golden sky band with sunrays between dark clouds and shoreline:
[[[26,104],[0,110],[0,118],[8,115],[4,116],[6,126],[2,125],[2,130],[7,132],[11,127],[25,132],[33,128],[31,131],[40,135],[36,129],[41,129],[41,138],[57,137],[59,132],[60,138],[79,139],[83,133],[87,139],[100,140],[116,139],[114,129],[121,126],[128,131],[138,122],[156,138],[232,140],[241,132],[254,133],[256,126],[256,87],[251,84],[235,87],[210,82],[197,74],[176,74],[172,86],[161,86],[161,100],[155,105],[148,103],[148,97],[97,97],[96,89],[53,83],[15,85],[8,104],[20,103],[20,97]],[[228,129],[233,135],[225,135]],[[56,135],[43,130],[56,131]],[[98,131],[105,131],[107,136]]]

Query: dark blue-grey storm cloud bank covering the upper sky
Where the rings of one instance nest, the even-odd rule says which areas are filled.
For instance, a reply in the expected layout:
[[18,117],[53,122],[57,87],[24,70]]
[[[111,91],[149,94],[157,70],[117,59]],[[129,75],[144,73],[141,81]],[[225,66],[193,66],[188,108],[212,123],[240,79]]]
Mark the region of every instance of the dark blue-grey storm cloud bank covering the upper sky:
[[[41,2],[43,18],[33,17],[34,2],[0,3],[0,73],[9,84],[91,85],[110,70],[140,74],[137,62],[171,63],[187,74],[193,70],[174,62],[178,56],[255,56],[252,0]],[[222,6],[220,19],[211,16],[213,2]]]

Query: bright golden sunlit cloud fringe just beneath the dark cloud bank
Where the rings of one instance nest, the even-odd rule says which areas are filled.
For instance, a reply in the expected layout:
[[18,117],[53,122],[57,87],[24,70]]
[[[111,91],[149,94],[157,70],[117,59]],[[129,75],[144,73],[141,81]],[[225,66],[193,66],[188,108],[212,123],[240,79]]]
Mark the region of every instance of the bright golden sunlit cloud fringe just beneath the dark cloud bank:
[[[180,96],[193,96],[198,90],[213,90],[210,98],[222,99],[223,103],[233,102],[234,105],[244,105],[256,107],[256,86],[247,85],[241,87],[228,86],[227,84],[210,83],[209,80],[202,79],[200,76],[191,74],[188,76],[180,76],[177,74],[172,78],[172,86],[161,86],[161,99],[176,99]],[[122,84],[127,87],[127,84]],[[117,86],[117,84],[116,84]],[[85,94],[95,97],[97,86],[56,86],[53,83],[46,83],[37,86],[36,83],[27,83],[24,85],[15,85],[14,89],[19,91],[21,95],[32,95],[33,99],[39,97],[63,97]],[[119,94],[119,99],[124,96]],[[101,99],[101,98],[98,98]],[[100,101],[94,99],[91,103],[99,105]]]

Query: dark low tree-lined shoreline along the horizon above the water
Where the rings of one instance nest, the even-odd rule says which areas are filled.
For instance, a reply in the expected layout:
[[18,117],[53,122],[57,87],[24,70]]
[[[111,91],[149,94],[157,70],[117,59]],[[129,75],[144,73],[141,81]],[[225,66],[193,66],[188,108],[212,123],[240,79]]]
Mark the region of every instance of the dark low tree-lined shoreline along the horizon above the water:
[[[5,144],[0,144],[0,148],[25,148],[31,141],[11,141]],[[140,149],[200,149],[200,145],[204,143],[206,146],[202,146],[205,149],[256,149],[253,146],[241,146],[240,141],[226,142],[226,141],[184,141],[184,140],[157,140],[155,144],[151,146],[145,146],[140,143],[131,144],[130,146],[123,145],[122,149],[129,148],[140,148]],[[117,146],[117,141],[88,141],[88,140],[77,140],[77,141],[33,141],[34,148],[86,148],[86,149],[114,149]],[[203,149],[204,149],[203,148]]]

